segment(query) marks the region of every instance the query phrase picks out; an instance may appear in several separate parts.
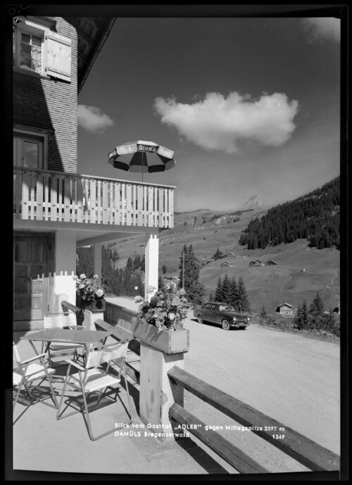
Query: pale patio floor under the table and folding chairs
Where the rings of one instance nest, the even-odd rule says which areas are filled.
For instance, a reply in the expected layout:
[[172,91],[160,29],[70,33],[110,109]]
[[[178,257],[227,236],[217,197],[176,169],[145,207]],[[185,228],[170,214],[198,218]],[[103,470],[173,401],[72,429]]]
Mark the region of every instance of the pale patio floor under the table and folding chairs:
[[[29,342],[20,340],[20,336],[25,333],[32,331],[13,334],[22,360],[34,355]],[[38,349],[39,345],[37,342]],[[66,367],[57,367],[56,375],[65,375],[65,372]],[[44,403],[28,406],[25,399],[21,401],[19,398],[13,415],[13,470],[137,475],[237,473],[215,453],[203,450],[191,437],[161,443],[155,437],[145,436],[144,432],[153,430],[147,429],[139,419],[139,386],[130,378],[127,380],[132,398],[134,427],[131,424],[122,431],[129,431],[132,436],[115,436],[115,433],[111,433],[98,441],[91,441],[80,412],[56,420],[56,409]],[[92,412],[94,434],[100,434],[113,428],[115,423],[128,420],[124,386],[122,379],[115,403]],[[58,393],[57,398],[60,398],[63,382],[56,379],[54,387]],[[52,404],[53,401],[48,398],[44,402]]]

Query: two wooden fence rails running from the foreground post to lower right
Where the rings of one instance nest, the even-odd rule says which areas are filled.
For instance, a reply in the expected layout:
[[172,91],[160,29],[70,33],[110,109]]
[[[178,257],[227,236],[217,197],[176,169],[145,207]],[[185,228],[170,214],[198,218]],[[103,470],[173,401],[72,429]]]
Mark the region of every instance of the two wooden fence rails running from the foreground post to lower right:
[[[272,417],[264,415],[262,412],[251,408],[251,406],[230,396],[230,394],[222,392],[214,386],[210,386],[210,384],[194,377],[192,374],[189,374],[189,372],[186,372],[177,366],[172,367],[168,372],[168,377],[171,382],[180,384],[184,389],[187,389],[187,391],[190,391],[206,403],[213,405],[216,409],[232,418],[235,422],[238,422],[245,427],[249,427],[250,431],[258,434],[258,436],[265,439],[265,441],[268,441],[273,446],[284,451],[284,453],[291,456],[291,458],[294,458],[302,465],[305,465],[310,470],[339,470],[340,458],[338,455],[327,450],[327,448],[323,448],[306,436],[299,434],[294,431],[294,429],[277,422],[272,419]],[[169,413],[173,419],[181,424],[194,424],[194,419],[196,419],[178,404],[172,405]],[[280,432],[280,428],[284,429],[284,431]],[[194,433],[194,429],[189,429],[189,431]],[[247,465],[250,467],[260,466],[258,464],[253,465],[253,463],[246,463],[244,466],[243,462],[246,460],[246,457],[239,456],[238,450],[234,448],[232,443],[230,443],[231,453],[229,455],[226,450],[224,451],[224,447],[226,448],[228,444],[223,443],[222,436],[216,432],[213,432],[210,435],[208,433],[209,432],[198,434],[197,436],[231,465],[233,462],[236,462],[237,466],[232,466],[237,470],[239,470],[239,468],[237,468],[238,466],[244,468],[246,468]],[[284,434],[284,438],[275,438],[277,434]]]

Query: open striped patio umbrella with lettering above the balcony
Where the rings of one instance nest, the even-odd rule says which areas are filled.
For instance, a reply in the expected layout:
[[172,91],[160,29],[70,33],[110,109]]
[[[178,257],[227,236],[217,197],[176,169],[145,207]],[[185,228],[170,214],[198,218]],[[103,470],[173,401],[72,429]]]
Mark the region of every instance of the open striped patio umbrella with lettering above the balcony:
[[125,172],[164,172],[175,167],[174,152],[153,141],[130,141],[108,154],[108,163]]

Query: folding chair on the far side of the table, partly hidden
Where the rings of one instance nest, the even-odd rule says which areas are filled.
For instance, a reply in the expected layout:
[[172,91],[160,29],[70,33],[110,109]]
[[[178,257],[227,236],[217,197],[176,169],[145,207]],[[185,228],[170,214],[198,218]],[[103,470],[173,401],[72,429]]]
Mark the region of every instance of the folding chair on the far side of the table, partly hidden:
[[[72,312],[67,313],[46,313],[44,315],[44,329],[54,329],[54,328],[67,328],[70,330],[84,330],[82,325],[77,325],[76,315]],[[62,353],[74,352],[74,360],[78,360],[83,357],[78,354],[78,350],[83,349],[80,344],[68,344],[67,342],[47,342],[45,351],[48,352],[49,365],[50,367],[55,365],[66,365],[66,363],[52,363],[51,357],[59,355]],[[42,352],[44,351],[44,342],[42,344]],[[84,350],[83,350],[84,355]]]

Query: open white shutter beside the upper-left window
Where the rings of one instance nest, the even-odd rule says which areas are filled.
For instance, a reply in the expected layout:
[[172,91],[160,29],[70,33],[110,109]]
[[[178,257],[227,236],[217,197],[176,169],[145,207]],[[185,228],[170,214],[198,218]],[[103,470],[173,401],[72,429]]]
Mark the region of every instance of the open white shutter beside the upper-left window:
[[48,31],[46,39],[46,74],[71,80],[71,39]]

